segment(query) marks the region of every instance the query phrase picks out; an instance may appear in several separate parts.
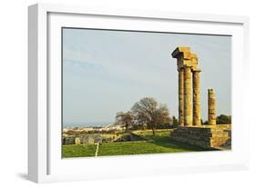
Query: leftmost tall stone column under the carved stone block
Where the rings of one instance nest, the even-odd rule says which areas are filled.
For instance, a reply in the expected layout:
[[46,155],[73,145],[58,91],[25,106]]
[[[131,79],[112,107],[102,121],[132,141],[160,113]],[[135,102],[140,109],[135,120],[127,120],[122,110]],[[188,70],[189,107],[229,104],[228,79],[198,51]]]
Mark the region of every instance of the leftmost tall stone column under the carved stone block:
[[179,68],[179,125],[184,126],[184,69]]

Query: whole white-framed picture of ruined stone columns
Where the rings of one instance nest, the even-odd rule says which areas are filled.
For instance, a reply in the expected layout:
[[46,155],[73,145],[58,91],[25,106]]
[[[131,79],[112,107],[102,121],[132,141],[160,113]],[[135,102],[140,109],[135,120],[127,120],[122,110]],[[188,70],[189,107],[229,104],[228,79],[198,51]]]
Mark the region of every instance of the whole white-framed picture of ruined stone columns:
[[28,8],[28,176],[244,170],[244,16]]

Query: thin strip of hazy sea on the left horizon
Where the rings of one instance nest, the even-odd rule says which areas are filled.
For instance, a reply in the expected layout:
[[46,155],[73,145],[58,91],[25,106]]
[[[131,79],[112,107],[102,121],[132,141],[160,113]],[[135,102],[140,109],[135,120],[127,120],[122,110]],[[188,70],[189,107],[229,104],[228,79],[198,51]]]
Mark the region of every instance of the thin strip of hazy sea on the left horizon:
[[83,123],[63,123],[63,127],[104,127],[114,122],[83,122]]

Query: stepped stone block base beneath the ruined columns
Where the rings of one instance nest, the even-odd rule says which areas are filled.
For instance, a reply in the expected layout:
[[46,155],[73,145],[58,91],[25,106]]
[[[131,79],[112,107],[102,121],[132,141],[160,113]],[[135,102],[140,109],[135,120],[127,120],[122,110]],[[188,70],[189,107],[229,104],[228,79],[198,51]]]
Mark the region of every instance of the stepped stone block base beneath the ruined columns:
[[223,125],[221,127],[218,127],[218,125],[179,126],[170,134],[170,139],[204,148],[218,148],[220,146],[230,146],[230,132],[229,127]]

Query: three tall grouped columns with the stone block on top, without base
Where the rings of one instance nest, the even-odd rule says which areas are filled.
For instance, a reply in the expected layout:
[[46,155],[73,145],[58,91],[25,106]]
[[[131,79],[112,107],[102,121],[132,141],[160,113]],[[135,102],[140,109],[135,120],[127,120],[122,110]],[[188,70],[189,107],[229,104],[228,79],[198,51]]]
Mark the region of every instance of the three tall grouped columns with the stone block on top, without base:
[[[172,57],[177,58],[179,71],[179,125],[200,125],[200,76],[197,69],[197,54],[191,54],[189,47],[179,46],[172,52]],[[193,82],[193,111],[191,96],[191,71],[195,71]],[[194,117],[193,117],[194,116]]]

